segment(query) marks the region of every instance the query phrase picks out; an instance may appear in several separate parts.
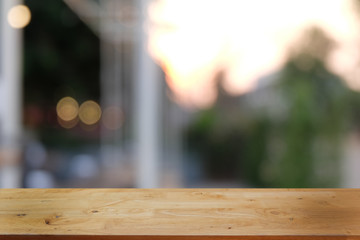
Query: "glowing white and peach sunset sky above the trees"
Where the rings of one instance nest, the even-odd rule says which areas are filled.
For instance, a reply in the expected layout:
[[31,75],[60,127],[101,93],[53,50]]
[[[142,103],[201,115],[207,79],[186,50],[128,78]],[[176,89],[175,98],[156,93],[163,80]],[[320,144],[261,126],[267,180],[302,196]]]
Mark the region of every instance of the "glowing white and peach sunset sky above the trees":
[[223,85],[229,93],[249,92],[260,77],[282,68],[306,29],[318,27],[338,44],[326,60],[329,70],[354,83],[349,69],[360,61],[360,54],[354,57],[360,48],[360,26],[353,4],[157,0],[149,8],[149,51],[164,68],[175,99],[204,107],[216,98],[217,71],[225,72]]

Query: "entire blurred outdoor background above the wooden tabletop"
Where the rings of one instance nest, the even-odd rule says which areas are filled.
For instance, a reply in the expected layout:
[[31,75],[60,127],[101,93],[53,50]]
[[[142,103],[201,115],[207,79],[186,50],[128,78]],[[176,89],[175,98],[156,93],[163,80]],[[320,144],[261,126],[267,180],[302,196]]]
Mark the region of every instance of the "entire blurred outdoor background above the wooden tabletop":
[[1,0],[0,187],[360,187],[360,1]]

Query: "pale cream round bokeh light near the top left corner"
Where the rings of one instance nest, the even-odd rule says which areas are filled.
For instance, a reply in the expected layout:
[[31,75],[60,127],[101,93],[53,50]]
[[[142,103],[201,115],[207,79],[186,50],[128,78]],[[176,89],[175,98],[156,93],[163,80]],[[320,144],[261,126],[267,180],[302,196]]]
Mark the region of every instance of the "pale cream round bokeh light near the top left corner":
[[8,12],[8,22],[13,28],[24,28],[31,20],[30,9],[25,5],[16,5]]

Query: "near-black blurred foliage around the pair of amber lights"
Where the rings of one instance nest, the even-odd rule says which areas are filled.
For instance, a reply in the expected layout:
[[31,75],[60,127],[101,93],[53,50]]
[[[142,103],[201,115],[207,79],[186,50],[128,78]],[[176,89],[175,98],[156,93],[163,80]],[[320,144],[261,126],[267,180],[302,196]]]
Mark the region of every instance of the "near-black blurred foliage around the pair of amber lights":
[[[66,130],[56,104],[100,95],[100,41],[62,0],[26,0],[32,19],[24,29],[24,124],[48,147],[96,143],[97,131]],[[78,124],[79,125],[79,124]]]

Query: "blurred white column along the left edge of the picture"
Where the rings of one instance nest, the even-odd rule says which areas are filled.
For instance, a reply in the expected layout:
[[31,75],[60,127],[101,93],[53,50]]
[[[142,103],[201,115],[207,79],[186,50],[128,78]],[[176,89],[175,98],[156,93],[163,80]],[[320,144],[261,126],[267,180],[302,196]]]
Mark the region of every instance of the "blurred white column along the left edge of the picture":
[[10,27],[7,14],[20,0],[2,0],[1,8],[1,114],[0,188],[21,186],[21,70],[22,30]]

